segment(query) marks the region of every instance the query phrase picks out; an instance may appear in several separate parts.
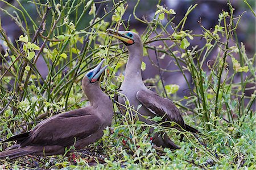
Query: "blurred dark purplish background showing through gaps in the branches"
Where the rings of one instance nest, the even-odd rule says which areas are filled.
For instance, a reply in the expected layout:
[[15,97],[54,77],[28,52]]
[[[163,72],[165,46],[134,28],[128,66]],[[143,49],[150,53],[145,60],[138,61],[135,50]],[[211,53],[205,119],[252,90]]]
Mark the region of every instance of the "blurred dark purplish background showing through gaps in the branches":
[[[18,2],[14,0],[8,0],[8,3],[11,3],[13,6],[18,6]],[[40,1],[42,3],[46,3],[46,1]],[[57,1],[56,1],[57,2]],[[112,1],[106,1],[105,3],[97,3],[96,7],[98,9],[99,15],[104,15],[104,11],[108,10],[109,7],[112,7]],[[117,1],[116,1],[117,2]],[[253,56],[255,54],[255,18],[249,8],[246,6],[246,4],[243,1],[240,0],[231,0],[232,6],[234,7],[235,16],[241,15],[243,11],[247,11],[247,13],[243,14],[241,23],[238,26],[237,29],[237,36],[238,41],[245,44],[247,55]],[[255,1],[250,0],[248,1],[249,4],[255,9]],[[31,16],[36,19],[38,17],[38,13],[36,12],[36,9],[34,7],[34,4],[28,3],[27,1],[20,1],[22,5],[26,8],[27,12],[29,14],[32,14]],[[214,28],[214,26],[218,23],[218,14],[222,13],[222,10],[229,11],[229,6],[227,5],[228,1],[225,0],[163,0],[161,1],[161,5],[164,7],[167,7],[167,9],[174,9],[176,12],[175,19],[173,20],[174,24],[179,23],[179,21],[184,17],[184,14],[186,13],[187,9],[191,5],[195,5],[195,3],[198,3],[198,6],[196,7],[196,10],[193,10],[191,14],[188,15],[188,21],[184,25],[184,30],[191,30],[192,34],[201,34],[202,28],[200,27],[200,24],[197,22],[201,20],[201,24],[207,28]],[[130,19],[130,27],[129,29],[135,29],[139,32],[139,34],[142,34],[144,29],[146,28],[146,24],[143,24],[142,22],[139,22],[137,19],[133,16],[133,9],[134,6],[137,4],[137,1],[127,1],[126,3],[128,5],[125,15],[123,15],[123,20],[127,21]],[[136,15],[138,18],[143,18],[147,20],[151,20],[154,18],[155,10],[156,10],[156,4],[158,4],[158,1],[155,0],[141,0],[138,4]],[[13,42],[13,44],[16,44],[15,40],[19,39],[19,36],[23,34],[22,30],[17,26],[15,23],[15,20],[13,18],[10,18],[10,16],[6,15],[5,10],[12,12],[13,8],[7,6],[5,3],[0,2],[1,7],[1,23],[2,27],[6,30],[7,35]],[[82,8],[81,8],[82,11]],[[13,11],[14,13],[14,11]],[[51,17],[51,16],[49,16]],[[70,20],[72,20],[72,17],[75,18],[75,16],[71,16]],[[89,21],[92,19],[92,15],[84,15],[82,18],[82,22],[79,26],[77,26],[77,30],[80,30],[82,28],[85,28],[89,25]],[[39,18],[40,20],[40,18]],[[107,16],[105,18],[106,21],[111,22],[111,16]],[[164,22],[164,20],[163,20]],[[31,23],[28,23],[28,26],[32,27]],[[122,26],[120,27],[122,29]],[[167,28],[168,31],[170,31],[170,34],[173,32],[172,28]],[[32,31],[31,31],[32,32]],[[34,34],[33,32],[31,34]],[[232,46],[231,40],[231,45]],[[205,40],[201,38],[195,38],[193,40],[190,40],[191,46],[195,47],[198,45],[198,47],[203,47],[205,44]],[[103,44],[102,44],[103,45]],[[161,42],[151,43],[148,45],[161,45]],[[170,44],[171,45],[171,44]],[[5,54],[5,45],[2,44],[0,40],[0,50],[2,55]],[[80,48],[80,47],[79,47]],[[214,49],[210,53],[209,60],[214,60],[214,57],[217,55],[218,49]],[[236,57],[236,56],[235,56]],[[2,60],[0,60],[2,61]],[[155,66],[156,64],[156,57],[154,51],[148,51],[148,56],[144,57],[144,62],[146,63],[146,71],[143,71],[143,79],[146,80],[147,78],[155,78],[156,75],[159,74],[158,68]],[[153,63],[152,63],[153,62]],[[231,61],[228,61],[231,62]],[[160,60],[160,67],[167,70],[175,70],[177,69],[175,63],[172,61],[171,57],[164,57],[164,59]],[[46,77],[48,74],[48,69],[46,62],[44,61],[43,57],[40,57],[39,60],[36,63],[40,74],[42,74],[43,77]],[[207,69],[207,65],[205,64],[205,69]],[[163,72],[162,73],[164,84],[177,84],[180,86],[180,90],[177,92],[177,96],[182,97],[186,95],[186,89],[187,84],[181,75],[180,72]],[[192,80],[189,80],[192,81]],[[235,82],[241,81],[241,78],[239,77],[239,74],[235,77]],[[251,86],[255,86],[254,84],[251,84]],[[250,96],[251,93],[254,92],[254,89],[247,90],[247,96]]]

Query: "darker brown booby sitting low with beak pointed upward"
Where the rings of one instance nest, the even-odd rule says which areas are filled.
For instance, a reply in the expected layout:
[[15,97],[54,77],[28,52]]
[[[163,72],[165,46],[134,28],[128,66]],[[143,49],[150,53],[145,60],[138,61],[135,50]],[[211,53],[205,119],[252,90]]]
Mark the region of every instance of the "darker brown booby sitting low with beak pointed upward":
[[16,140],[17,144],[14,149],[0,152],[0,158],[27,154],[64,154],[65,148],[74,144],[79,150],[100,139],[104,128],[111,125],[113,116],[112,101],[102,92],[98,82],[102,72],[108,67],[106,65],[101,69],[103,62],[104,60],[82,79],[82,90],[90,101],[88,106],[47,118],[31,131],[5,140],[4,142]]

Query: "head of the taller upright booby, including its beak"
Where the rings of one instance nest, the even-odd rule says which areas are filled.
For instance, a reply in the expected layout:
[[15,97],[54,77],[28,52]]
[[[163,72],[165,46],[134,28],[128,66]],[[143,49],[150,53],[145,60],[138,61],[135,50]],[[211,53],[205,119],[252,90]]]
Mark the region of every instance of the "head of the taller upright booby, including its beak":
[[106,31],[110,36],[121,40],[127,47],[142,45],[141,38],[133,31],[117,31],[110,28]]

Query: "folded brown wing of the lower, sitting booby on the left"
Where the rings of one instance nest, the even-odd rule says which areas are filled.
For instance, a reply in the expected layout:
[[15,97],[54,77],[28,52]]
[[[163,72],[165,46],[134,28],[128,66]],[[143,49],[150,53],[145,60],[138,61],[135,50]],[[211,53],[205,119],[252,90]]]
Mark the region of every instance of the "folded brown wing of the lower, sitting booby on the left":
[[20,145],[72,145],[75,138],[84,139],[101,127],[100,118],[92,111],[86,107],[48,118],[31,130]]

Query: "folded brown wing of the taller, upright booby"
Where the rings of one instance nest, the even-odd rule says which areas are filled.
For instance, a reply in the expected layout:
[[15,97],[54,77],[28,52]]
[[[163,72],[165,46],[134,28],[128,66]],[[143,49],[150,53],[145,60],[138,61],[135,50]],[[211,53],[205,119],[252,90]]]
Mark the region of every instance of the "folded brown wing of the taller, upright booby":
[[151,90],[139,90],[136,94],[137,99],[155,115],[163,117],[163,121],[174,121],[185,128],[183,118],[177,107],[170,99],[160,97]]

